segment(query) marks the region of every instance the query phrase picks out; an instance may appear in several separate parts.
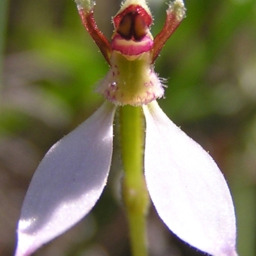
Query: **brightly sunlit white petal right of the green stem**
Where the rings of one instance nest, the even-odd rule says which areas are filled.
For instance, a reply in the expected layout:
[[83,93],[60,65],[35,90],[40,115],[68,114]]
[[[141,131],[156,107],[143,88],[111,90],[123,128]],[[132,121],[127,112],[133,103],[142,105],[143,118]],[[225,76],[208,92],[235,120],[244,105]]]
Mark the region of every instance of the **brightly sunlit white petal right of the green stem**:
[[161,219],[180,239],[215,256],[236,254],[236,220],[227,183],[211,156],[163,113],[146,117],[145,177]]

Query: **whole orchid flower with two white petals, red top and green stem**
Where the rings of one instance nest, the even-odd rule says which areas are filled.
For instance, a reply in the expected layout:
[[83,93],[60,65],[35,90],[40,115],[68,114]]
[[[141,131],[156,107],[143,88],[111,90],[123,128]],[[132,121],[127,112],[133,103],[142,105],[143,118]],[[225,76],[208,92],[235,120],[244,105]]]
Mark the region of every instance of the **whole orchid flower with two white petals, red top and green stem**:
[[[15,256],[31,255],[92,210],[108,179],[116,111],[131,234],[141,232],[143,240],[151,198],[159,217],[186,243],[214,256],[237,255],[234,205],[225,178],[211,156],[156,102],[164,89],[154,61],[184,18],[184,3],[168,4],[164,27],[153,38],[146,1],[124,1],[113,18],[111,42],[97,28],[93,1],[76,3],[110,66],[96,89],[106,101],[53,145],[39,164],[22,206]],[[132,244],[137,238],[131,238]],[[134,249],[134,255],[147,255],[136,254],[142,251]]]

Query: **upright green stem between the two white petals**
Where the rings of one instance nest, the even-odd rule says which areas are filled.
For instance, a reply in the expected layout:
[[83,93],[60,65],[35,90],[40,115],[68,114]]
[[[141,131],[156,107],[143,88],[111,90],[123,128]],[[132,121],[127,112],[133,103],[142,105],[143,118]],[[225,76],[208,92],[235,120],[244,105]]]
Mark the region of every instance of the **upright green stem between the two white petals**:
[[120,108],[120,138],[124,167],[123,197],[129,220],[133,256],[147,256],[146,216],[149,196],[143,175],[144,120],[140,107]]

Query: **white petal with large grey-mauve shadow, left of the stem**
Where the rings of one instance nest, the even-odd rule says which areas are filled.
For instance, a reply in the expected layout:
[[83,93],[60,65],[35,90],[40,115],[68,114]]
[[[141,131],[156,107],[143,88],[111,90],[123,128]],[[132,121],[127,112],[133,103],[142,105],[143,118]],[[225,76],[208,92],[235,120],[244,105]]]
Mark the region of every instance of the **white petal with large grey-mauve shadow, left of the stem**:
[[15,256],[30,255],[95,205],[108,178],[115,106],[105,102],[47,152],[22,206]]

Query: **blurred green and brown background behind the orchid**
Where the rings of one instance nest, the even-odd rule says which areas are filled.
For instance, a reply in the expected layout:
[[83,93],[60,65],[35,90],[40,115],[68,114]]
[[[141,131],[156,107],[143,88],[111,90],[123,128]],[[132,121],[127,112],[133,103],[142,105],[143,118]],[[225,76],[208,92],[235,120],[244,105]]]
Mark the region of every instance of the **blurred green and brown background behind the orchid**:
[[[97,0],[108,38],[119,0]],[[164,1],[151,1],[152,33]],[[156,72],[168,78],[159,104],[216,160],[232,191],[240,256],[256,255],[256,1],[186,0],[187,17]],[[0,1],[0,255],[12,255],[22,200],[45,152],[98,108],[93,84],[108,65],[71,0]],[[35,255],[131,255],[118,193],[120,157],[92,214]],[[171,184],[170,184],[171,186]],[[202,255],[173,236],[153,207],[152,256]]]

